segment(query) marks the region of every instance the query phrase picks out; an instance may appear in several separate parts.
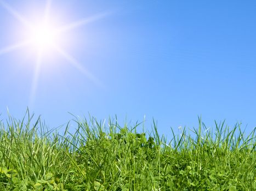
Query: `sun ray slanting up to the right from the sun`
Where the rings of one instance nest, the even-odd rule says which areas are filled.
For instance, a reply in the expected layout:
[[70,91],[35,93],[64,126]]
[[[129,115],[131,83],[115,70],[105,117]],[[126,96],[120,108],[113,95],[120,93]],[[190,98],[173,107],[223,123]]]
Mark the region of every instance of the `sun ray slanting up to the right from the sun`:
[[56,29],[56,33],[62,33],[62,32],[70,31],[70,30],[75,29],[77,27],[81,27],[83,25],[86,25],[90,22],[94,22],[96,20],[103,19],[105,16],[107,16],[109,14],[110,14],[110,12],[103,12],[103,13],[96,14],[94,16],[84,18],[82,20],[72,22],[70,24],[67,24],[65,26],[62,26],[62,27]]

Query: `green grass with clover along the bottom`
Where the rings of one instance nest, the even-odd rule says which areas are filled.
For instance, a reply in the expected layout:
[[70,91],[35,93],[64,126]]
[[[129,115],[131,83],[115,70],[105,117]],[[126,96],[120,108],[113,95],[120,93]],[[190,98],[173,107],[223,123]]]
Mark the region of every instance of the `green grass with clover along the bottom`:
[[256,190],[255,128],[199,127],[167,142],[90,118],[77,130],[45,130],[29,113],[0,124],[0,190]]

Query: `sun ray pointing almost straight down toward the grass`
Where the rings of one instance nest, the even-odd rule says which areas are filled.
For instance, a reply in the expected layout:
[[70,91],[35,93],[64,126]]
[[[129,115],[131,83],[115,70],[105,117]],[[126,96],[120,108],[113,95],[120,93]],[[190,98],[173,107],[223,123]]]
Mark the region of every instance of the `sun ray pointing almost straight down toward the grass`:
[[37,54],[38,55],[37,55],[37,60],[36,60],[36,68],[35,68],[35,72],[33,74],[32,86],[31,86],[31,90],[30,90],[29,103],[30,103],[31,108],[33,108],[33,104],[35,103],[39,73],[40,73],[40,68],[41,68],[41,64],[42,64],[42,52],[38,51]]

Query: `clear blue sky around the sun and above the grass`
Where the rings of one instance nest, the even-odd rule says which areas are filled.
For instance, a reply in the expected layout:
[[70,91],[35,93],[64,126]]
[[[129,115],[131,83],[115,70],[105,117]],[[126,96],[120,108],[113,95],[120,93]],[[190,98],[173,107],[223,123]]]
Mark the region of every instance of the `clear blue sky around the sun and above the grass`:
[[[0,1],[3,2],[3,1]],[[47,1],[8,1],[28,21]],[[5,7],[4,7],[5,6]],[[207,127],[226,120],[256,126],[255,1],[64,1],[50,5],[60,25],[103,16],[65,33],[65,50],[92,77],[59,52],[43,56],[21,47],[22,23],[0,6],[0,113],[21,118],[27,106],[50,128],[73,115],[120,123],[152,117],[161,134],[170,127]],[[107,13],[107,14],[105,14]],[[61,42],[62,43],[62,42]],[[35,86],[32,94],[32,86]]]

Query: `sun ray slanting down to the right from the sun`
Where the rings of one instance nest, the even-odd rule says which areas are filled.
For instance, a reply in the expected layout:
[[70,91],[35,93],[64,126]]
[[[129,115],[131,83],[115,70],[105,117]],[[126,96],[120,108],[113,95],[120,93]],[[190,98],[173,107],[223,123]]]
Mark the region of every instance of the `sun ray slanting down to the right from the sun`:
[[73,67],[77,68],[81,73],[86,75],[89,80],[92,80],[96,85],[103,87],[103,83],[100,82],[92,73],[90,73],[86,68],[83,67],[81,63],[79,63],[74,57],[69,55],[65,50],[61,49],[58,45],[55,45],[55,50],[59,52],[59,54],[64,57]]

